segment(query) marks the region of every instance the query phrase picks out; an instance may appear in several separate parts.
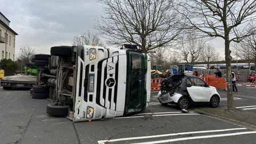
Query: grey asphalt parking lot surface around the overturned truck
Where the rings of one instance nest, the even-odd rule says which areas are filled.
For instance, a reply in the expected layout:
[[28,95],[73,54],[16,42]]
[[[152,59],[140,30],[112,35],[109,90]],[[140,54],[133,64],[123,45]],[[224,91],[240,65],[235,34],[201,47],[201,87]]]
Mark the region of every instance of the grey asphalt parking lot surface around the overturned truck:
[[[239,86],[235,107],[255,111],[255,89]],[[224,91],[220,107],[226,106]],[[28,90],[0,87],[0,143],[255,143],[256,131],[175,106],[159,105],[156,92],[141,114],[73,123],[46,114],[48,100],[32,99]],[[256,106],[255,106],[256,107]],[[199,108],[199,107],[197,107]]]

